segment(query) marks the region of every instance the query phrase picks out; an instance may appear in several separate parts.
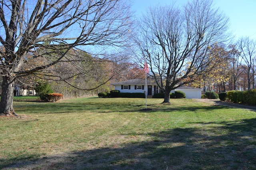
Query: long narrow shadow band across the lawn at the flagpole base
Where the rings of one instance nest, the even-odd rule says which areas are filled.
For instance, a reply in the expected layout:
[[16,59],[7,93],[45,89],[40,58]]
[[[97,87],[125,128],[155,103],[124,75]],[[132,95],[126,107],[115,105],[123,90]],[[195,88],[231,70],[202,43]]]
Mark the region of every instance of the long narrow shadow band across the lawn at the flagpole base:
[[[40,109],[38,109],[40,108]],[[212,111],[216,109],[229,109],[230,107],[227,106],[162,106],[159,104],[151,104],[148,105],[148,108],[152,108],[149,111],[143,111],[141,109],[144,108],[143,104],[101,104],[101,103],[94,103],[94,104],[76,104],[76,103],[48,103],[48,104],[28,104],[24,106],[15,106],[15,110],[17,113],[20,111],[26,110],[26,113],[74,113],[80,112],[83,113],[84,111],[93,111],[95,113],[110,113],[110,112],[148,112],[148,113],[155,113],[158,111],[162,112],[171,112],[171,111]]]

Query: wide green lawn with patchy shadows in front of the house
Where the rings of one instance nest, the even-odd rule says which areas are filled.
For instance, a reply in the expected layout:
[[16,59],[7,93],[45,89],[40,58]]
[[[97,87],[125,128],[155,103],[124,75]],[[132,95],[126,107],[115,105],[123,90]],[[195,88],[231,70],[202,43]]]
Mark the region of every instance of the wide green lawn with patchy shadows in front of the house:
[[190,99],[17,99],[0,169],[256,169],[256,113]]

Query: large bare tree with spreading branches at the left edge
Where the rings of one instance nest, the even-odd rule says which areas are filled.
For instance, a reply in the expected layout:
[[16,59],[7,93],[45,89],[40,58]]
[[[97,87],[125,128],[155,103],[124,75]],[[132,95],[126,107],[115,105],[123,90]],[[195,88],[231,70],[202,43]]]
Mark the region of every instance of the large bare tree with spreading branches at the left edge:
[[71,49],[124,47],[131,23],[125,0],[0,0],[0,114],[15,114],[17,78],[73,60]]

